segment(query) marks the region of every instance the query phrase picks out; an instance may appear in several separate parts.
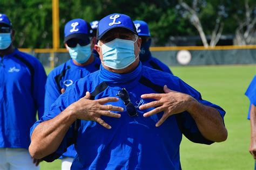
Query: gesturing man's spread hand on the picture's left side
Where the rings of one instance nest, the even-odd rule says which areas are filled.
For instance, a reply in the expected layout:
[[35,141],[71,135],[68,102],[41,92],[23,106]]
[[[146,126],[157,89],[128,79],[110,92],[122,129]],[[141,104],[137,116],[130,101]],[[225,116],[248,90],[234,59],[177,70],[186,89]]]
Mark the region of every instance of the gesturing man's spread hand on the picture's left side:
[[71,104],[68,110],[72,110],[76,115],[76,119],[82,119],[85,121],[96,121],[100,125],[107,129],[111,129],[111,126],[103,121],[100,116],[109,116],[120,118],[120,114],[115,114],[111,111],[124,111],[121,107],[115,107],[113,105],[104,105],[109,102],[117,102],[119,98],[117,97],[106,97],[100,98],[98,100],[90,100],[91,94],[89,91],[83,98],[80,98],[77,102]]

